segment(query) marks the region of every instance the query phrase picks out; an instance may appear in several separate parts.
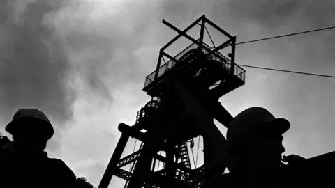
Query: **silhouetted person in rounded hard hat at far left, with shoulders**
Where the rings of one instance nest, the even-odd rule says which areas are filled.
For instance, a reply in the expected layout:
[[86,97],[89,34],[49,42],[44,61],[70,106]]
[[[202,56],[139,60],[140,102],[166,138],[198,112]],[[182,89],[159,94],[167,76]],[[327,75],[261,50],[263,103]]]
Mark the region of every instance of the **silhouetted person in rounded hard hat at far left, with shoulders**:
[[6,131],[13,142],[0,149],[0,187],[76,187],[73,171],[44,151],[54,129],[42,111],[19,109]]

